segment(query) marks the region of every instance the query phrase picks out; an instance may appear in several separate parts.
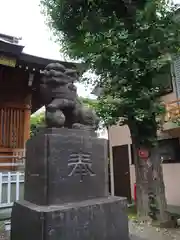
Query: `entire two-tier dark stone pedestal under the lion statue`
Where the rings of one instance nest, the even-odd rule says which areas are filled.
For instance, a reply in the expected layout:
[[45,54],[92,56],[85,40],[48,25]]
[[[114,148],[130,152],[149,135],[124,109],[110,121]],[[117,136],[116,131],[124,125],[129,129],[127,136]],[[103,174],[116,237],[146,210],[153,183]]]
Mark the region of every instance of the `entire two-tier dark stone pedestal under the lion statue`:
[[106,141],[47,129],[27,143],[24,201],[12,209],[12,240],[128,240],[126,199],[108,196]]

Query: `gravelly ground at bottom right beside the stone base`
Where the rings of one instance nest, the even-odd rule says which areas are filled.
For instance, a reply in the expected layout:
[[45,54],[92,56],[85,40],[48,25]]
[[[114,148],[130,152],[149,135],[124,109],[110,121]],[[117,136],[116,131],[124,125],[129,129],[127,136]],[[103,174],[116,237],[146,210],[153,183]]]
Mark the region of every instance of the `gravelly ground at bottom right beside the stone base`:
[[180,240],[180,229],[160,229],[130,220],[131,240]]

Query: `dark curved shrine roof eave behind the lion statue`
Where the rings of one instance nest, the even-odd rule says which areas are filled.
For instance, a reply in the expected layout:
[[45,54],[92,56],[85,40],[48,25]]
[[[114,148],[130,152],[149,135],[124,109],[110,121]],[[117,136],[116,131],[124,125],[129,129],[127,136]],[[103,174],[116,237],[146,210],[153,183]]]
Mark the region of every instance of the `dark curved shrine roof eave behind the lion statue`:
[[40,76],[49,63],[58,62],[66,68],[76,69],[79,75],[86,71],[87,66],[83,63],[65,62],[27,54],[23,52],[24,46],[19,44],[19,40],[19,38],[0,33],[0,65],[20,68],[33,75],[34,80],[31,85],[28,85],[32,93],[31,110],[33,113],[43,106],[40,98]]

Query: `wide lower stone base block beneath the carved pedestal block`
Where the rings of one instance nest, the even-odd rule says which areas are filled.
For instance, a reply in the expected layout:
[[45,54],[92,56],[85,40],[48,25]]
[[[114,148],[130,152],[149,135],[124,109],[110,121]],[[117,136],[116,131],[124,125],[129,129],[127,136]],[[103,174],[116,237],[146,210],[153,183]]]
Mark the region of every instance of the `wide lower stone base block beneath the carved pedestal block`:
[[59,206],[17,202],[11,240],[129,240],[124,198],[108,197]]

